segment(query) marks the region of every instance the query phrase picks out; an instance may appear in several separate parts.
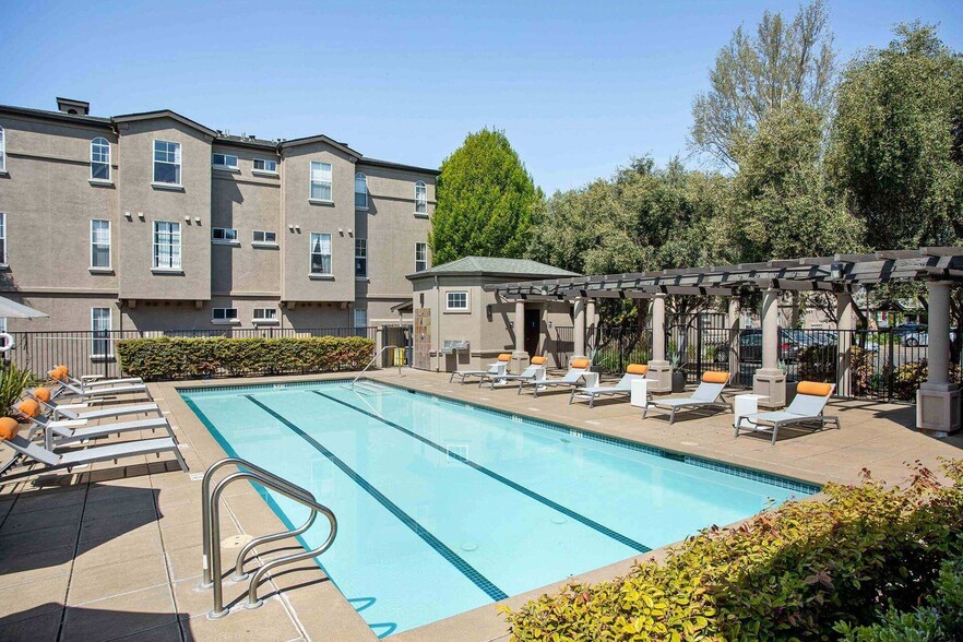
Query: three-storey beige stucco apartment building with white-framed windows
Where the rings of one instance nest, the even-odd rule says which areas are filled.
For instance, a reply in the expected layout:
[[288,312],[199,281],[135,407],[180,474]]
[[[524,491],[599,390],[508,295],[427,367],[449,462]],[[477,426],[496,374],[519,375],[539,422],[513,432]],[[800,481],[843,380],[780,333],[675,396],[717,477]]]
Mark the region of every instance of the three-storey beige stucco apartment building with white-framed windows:
[[437,170],[323,134],[57,107],[0,106],[0,289],[50,314],[10,331],[346,328],[409,309]]

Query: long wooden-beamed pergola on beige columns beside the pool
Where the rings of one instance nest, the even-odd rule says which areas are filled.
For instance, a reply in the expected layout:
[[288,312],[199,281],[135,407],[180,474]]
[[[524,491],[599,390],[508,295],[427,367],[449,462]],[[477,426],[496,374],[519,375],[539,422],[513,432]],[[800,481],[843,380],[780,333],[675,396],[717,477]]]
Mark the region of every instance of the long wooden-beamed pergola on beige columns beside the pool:
[[[571,300],[574,304],[575,354],[585,350],[585,314],[596,299],[652,299],[654,380],[651,390],[671,389],[671,369],[665,355],[665,297],[721,296],[729,298],[730,332],[738,335],[739,298],[762,294],[762,367],[753,391],[771,406],[785,404],[785,374],[778,368],[778,295],[782,292],[823,292],[836,298],[839,330],[852,330],[853,292],[893,282],[923,282],[928,289],[929,358],[927,381],[917,391],[917,426],[946,435],[960,428],[960,391],[949,381],[950,286],[963,283],[963,247],[923,247],[865,254],[836,254],[774,260],[763,263],[679,268],[626,274],[602,274],[546,281],[486,285],[503,300],[514,300],[516,322],[525,301]],[[842,336],[847,333],[841,333]],[[515,346],[516,352],[521,346]],[[837,385],[849,379],[849,346],[840,344]]]

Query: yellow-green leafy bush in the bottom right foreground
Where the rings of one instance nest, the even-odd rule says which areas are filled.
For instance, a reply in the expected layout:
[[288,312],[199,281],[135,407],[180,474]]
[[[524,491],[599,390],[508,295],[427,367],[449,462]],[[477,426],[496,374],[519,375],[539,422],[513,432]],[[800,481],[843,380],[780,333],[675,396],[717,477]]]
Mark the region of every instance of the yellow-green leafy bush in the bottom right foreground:
[[736,528],[715,526],[625,578],[569,584],[508,614],[512,639],[824,640],[833,626],[908,609],[961,549],[963,465],[906,489],[830,484]]

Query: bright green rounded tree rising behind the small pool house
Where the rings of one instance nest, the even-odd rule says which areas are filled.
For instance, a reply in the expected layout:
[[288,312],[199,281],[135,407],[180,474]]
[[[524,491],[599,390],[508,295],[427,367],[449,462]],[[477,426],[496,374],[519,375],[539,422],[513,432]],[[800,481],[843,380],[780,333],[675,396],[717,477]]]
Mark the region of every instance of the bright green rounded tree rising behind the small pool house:
[[428,235],[432,261],[522,257],[542,198],[504,132],[468,134],[441,164]]

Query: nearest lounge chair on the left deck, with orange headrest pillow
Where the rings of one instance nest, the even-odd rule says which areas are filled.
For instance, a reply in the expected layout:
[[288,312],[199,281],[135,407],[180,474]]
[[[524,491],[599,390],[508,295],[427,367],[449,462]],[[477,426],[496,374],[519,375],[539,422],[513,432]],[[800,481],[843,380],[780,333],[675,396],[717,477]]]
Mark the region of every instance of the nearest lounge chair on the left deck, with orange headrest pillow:
[[169,437],[143,439],[139,441],[123,441],[121,443],[96,445],[94,448],[72,450],[58,454],[44,448],[39,443],[34,443],[28,439],[21,437],[17,433],[19,431],[20,424],[16,423],[16,419],[11,417],[0,417],[0,440],[12,448],[22,460],[33,460],[34,462],[43,464],[43,467],[29,468],[11,475],[4,475],[4,482],[20,477],[28,477],[38,473],[47,473],[62,468],[70,469],[74,466],[84,464],[146,454],[159,455],[165,452],[174,453],[181,471],[187,472],[189,469],[187,462],[183,461],[183,456],[181,456],[180,451],[177,449],[177,442]]

